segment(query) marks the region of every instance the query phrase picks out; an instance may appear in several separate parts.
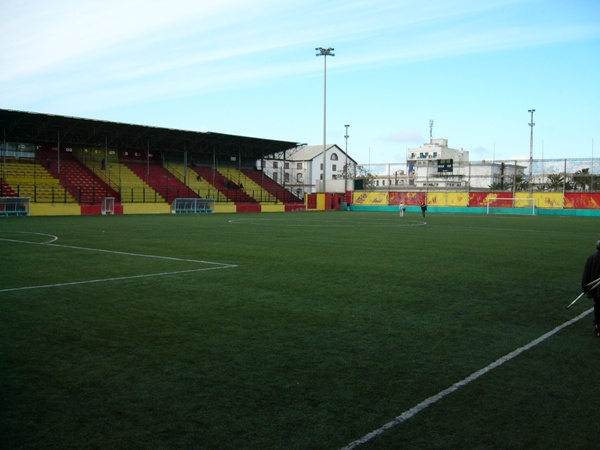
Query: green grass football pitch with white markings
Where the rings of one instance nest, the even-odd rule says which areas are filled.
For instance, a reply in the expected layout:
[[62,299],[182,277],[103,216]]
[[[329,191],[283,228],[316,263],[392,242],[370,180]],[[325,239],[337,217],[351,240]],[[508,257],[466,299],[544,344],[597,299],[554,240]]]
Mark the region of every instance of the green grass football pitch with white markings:
[[[598,220],[0,219],[0,447],[341,449],[589,311]],[[592,315],[361,449],[594,448]]]

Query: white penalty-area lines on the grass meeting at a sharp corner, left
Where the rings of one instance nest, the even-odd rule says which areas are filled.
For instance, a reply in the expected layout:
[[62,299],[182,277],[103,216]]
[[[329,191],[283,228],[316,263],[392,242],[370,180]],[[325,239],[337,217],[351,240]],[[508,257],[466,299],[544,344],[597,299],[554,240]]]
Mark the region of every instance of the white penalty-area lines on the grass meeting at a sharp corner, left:
[[45,245],[48,247],[62,247],[62,248],[70,248],[70,249],[75,249],[75,250],[85,250],[85,251],[100,252],[100,253],[112,253],[112,254],[116,254],[116,255],[133,256],[133,257],[140,257],[140,258],[155,258],[155,259],[164,259],[164,260],[168,260],[168,261],[189,262],[189,263],[195,263],[195,264],[210,264],[215,267],[203,267],[200,269],[177,270],[177,271],[173,271],[173,272],[159,272],[159,273],[151,273],[151,274],[131,275],[131,276],[127,276],[127,277],[102,278],[102,279],[97,279],[97,280],[73,281],[73,282],[69,282],[69,283],[46,284],[46,285],[40,285],[40,286],[25,286],[25,287],[19,287],[19,288],[8,288],[8,289],[0,289],[0,293],[1,292],[23,291],[23,290],[30,290],[30,289],[46,289],[46,288],[61,287],[61,286],[74,286],[74,285],[78,285],[78,284],[100,283],[100,282],[105,282],[105,281],[119,281],[119,280],[131,280],[131,279],[136,279],[136,278],[161,277],[161,276],[167,276],[167,275],[178,275],[178,274],[182,274],[182,273],[203,272],[203,271],[208,271],[208,270],[230,269],[230,268],[237,267],[236,264],[219,263],[219,262],[215,262],[215,261],[176,258],[176,257],[172,257],[172,256],[146,255],[146,254],[142,254],[142,253],[120,252],[120,251],[116,251],[116,250],[104,250],[104,249],[98,249],[98,248],[78,247],[78,246],[74,246],[74,245],[53,244],[52,242],[56,242],[58,240],[57,236],[53,236],[50,234],[44,234],[44,233],[33,233],[33,232],[18,232],[18,233],[32,234],[32,235],[36,235],[36,236],[47,236],[50,239],[46,242],[31,242],[31,241],[26,241],[26,240],[0,238],[0,241],[15,242],[15,243],[19,243],[19,244],[30,244],[30,245]]

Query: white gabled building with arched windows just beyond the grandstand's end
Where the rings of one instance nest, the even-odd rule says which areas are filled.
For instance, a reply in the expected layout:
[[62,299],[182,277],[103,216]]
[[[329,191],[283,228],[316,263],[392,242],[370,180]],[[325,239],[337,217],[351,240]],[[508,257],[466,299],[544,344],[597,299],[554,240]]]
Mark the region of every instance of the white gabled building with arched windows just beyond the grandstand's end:
[[[354,190],[356,161],[336,144],[329,144],[326,148],[325,188],[327,192],[344,193],[347,190]],[[323,192],[322,145],[297,147],[262,161],[265,174],[298,197]],[[260,161],[258,167],[261,168]]]

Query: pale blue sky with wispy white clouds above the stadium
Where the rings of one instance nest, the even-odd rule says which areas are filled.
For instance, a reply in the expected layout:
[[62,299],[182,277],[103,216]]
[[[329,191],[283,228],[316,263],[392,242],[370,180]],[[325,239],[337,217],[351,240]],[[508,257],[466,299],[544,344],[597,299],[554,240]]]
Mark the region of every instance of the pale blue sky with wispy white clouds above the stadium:
[[0,17],[3,109],[322,145],[326,98],[327,144],[360,164],[405,162],[430,121],[471,161],[529,159],[535,109],[535,159],[600,157],[599,0],[0,0]]

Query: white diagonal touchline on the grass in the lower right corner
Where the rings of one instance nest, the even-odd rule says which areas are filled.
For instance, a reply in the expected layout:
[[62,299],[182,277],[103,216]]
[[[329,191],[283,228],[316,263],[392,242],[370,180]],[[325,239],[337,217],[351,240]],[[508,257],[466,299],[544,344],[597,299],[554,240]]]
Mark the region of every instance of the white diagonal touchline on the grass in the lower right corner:
[[416,414],[420,413],[425,408],[433,405],[434,403],[437,403],[438,401],[440,401],[441,399],[443,399],[447,395],[450,395],[454,391],[457,391],[461,387],[466,386],[471,381],[475,381],[477,378],[481,377],[482,375],[485,375],[486,373],[488,373],[489,371],[495,369],[496,367],[500,367],[502,364],[510,361],[513,358],[516,358],[521,353],[523,353],[523,352],[525,352],[527,350],[532,349],[536,345],[540,344],[541,342],[545,341],[549,337],[551,337],[551,336],[555,335],[556,333],[558,333],[563,328],[566,328],[569,325],[572,325],[575,322],[577,322],[578,320],[584,318],[585,316],[587,316],[588,314],[590,314],[593,310],[594,310],[594,308],[590,308],[589,310],[581,313],[579,316],[575,317],[574,319],[571,319],[568,322],[563,323],[562,325],[556,327],[554,330],[549,331],[548,333],[544,334],[543,336],[540,336],[539,338],[537,338],[534,341],[531,341],[529,344],[524,345],[523,347],[518,348],[515,351],[513,351],[511,353],[508,353],[507,355],[504,355],[502,358],[497,359],[496,361],[494,361],[493,363],[491,363],[488,366],[484,367],[483,369],[478,370],[477,372],[473,372],[467,378],[465,378],[465,379],[463,379],[463,380],[461,380],[461,381],[459,381],[457,383],[454,383],[448,389],[444,389],[443,391],[437,393],[436,395],[433,395],[433,396],[431,396],[431,397],[423,400],[421,403],[419,403],[415,407],[409,409],[408,411],[403,412],[398,417],[396,417],[394,420],[391,420],[390,422],[388,422],[385,425],[383,425],[381,428],[379,428],[379,429],[377,429],[375,431],[371,431],[369,434],[366,434],[362,438],[357,439],[356,441],[348,444],[346,447],[342,448],[342,450],[351,450],[351,449],[354,449],[354,448],[358,447],[359,445],[366,444],[370,440],[372,440],[372,439],[374,439],[374,438],[376,438],[378,436],[381,436],[383,433],[385,433],[390,428],[393,428],[396,425],[400,425],[401,423],[406,422],[408,419],[410,419],[413,416],[415,416]]

